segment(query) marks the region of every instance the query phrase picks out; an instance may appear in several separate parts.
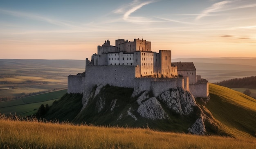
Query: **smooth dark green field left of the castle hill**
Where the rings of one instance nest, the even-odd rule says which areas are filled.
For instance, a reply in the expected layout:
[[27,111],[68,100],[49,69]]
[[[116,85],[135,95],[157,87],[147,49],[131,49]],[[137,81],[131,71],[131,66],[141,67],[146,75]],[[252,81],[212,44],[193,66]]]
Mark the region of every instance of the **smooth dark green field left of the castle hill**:
[[67,89],[3,101],[0,102],[0,113],[5,115],[16,113],[21,116],[30,116],[36,113],[40,105],[52,105],[55,100],[60,99],[65,93],[67,93]]

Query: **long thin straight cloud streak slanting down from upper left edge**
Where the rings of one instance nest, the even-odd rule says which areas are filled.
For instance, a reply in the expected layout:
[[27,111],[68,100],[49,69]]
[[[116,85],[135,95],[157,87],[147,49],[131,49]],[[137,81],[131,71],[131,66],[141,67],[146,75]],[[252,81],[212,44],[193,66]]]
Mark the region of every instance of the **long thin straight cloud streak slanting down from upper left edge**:
[[5,14],[11,15],[11,16],[16,16],[16,17],[29,18],[32,20],[39,20],[39,21],[50,23],[50,24],[58,25],[61,27],[76,27],[76,28],[78,28],[77,26],[68,24],[63,21],[54,20],[51,18],[47,18],[45,16],[39,16],[39,15],[31,14],[31,13],[24,13],[24,12],[20,12],[20,11],[10,11],[10,10],[5,10],[5,9],[0,9],[0,13],[5,13]]

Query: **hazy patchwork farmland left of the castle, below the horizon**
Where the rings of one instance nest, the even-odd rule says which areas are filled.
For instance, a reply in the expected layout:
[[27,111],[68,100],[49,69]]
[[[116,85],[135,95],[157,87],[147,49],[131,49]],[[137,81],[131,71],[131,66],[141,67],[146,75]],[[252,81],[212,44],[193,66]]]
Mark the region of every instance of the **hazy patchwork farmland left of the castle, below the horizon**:
[[0,101],[67,88],[67,76],[85,71],[84,60],[0,59]]

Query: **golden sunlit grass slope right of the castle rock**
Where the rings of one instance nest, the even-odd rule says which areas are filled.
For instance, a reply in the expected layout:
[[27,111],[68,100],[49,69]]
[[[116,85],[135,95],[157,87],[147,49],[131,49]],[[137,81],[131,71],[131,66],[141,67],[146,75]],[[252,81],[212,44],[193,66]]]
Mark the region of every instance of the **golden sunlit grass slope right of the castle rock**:
[[231,136],[256,137],[256,100],[227,87],[209,84],[211,100],[205,106]]

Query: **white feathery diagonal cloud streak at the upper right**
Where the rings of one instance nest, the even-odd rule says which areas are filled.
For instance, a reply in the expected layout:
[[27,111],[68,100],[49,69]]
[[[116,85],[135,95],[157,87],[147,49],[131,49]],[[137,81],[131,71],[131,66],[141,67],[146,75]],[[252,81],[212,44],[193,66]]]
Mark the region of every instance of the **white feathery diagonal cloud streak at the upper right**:
[[199,20],[200,18],[203,18],[205,16],[209,16],[209,13],[218,11],[219,9],[224,7],[225,4],[228,4],[228,3],[231,3],[231,1],[225,0],[225,1],[217,2],[217,3],[213,4],[211,7],[208,7],[200,15],[198,15],[198,17],[196,17],[195,20]]

